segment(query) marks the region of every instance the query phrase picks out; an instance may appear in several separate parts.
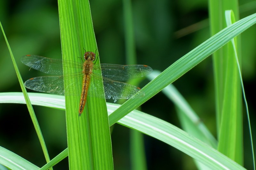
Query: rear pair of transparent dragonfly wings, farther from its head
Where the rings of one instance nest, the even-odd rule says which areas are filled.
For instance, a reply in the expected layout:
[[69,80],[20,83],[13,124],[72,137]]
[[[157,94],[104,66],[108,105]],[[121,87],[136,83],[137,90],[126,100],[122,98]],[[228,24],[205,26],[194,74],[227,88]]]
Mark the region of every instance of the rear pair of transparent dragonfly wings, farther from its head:
[[[100,77],[92,74],[93,81],[90,82],[88,89],[88,96],[106,98],[106,99],[129,99],[129,98],[140,98],[144,96],[144,92],[140,88],[129,85],[127,83],[113,81],[108,78],[103,78],[104,93],[100,90]],[[25,82],[25,86],[28,89],[35,90],[38,92],[47,92],[50,94],[57,95],[76,95],[80,96],[81,92],[75,92],[73,89],[81,88],[82,79],[74,78],[72,84],[67,85],[64,88],[63,76],[43,76],[30,78]],[[70,90],[69,90],[70,89]]]

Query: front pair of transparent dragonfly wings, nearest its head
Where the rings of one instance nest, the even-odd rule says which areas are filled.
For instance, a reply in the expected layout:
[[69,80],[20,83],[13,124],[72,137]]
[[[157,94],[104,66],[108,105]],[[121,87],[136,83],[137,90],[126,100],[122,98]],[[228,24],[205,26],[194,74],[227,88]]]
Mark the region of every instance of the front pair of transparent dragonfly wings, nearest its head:
[[[46,58],[38,55],[24,55],[20,61],[33,69],[47,74],[63,74],[63,65],[65,67],[81,68],[82,63],[76,63],[68,60]],[[150,74],[153,70],[147,65],[117,65],[117,64],[97,64],[93,65],[94,70],[101,70],[102,76],[112,80],[129,80],[140,78]]]

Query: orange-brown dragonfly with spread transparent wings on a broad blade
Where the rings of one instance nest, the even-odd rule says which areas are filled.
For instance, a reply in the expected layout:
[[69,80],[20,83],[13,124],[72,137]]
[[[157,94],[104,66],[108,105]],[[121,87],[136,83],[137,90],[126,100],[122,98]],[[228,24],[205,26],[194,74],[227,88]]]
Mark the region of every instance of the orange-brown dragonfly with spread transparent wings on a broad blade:
[[[24,55],[20,58],[22,63],[35,70],[52,74],[52,76],[30,78],[24,85],[28,89],[38,92],[81,96],[79,116],[84,110],[87,96],[113,98],[116,101],[116,99],[140,98],[145,95],[139,87],[120,81],[146,76],[153,71],[151,67],[147,65],[94,64],[95,59],[95,53],[90,51],[84,53],[83,63],[38,55]],[[67,70],[77,70],[78,68],[80,71],[70,71],[63,76],[63,67],[66,67]],[[98,70],[101,71],[101,75]],[[67,79],[72,79],[73,83],[64,87],[64,80]],[[102,82],[104,93],[100,90]],[[76,93],[74,89],[78,88],[79,84],[82,84],[82,91]]]

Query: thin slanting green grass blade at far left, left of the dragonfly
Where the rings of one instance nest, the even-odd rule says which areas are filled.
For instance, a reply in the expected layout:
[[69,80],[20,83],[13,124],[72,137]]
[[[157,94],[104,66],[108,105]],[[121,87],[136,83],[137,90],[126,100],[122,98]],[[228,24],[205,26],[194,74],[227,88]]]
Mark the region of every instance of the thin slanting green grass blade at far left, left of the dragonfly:
[[19,83],[20,83],[21,90],[22,90],[22,92],[23,92],[23,94],[24,94],[24,97],[25,97],[25,100],[26,100],[26,103],[27,103],[29,115],[30,115],[31,120],[32,120],[32,122],[33,122],[33,125],[34,125],[34,127],[35,127],[36,134],[37,134],[37,136],[38,136],[38,138],[39,138],[39,142],[40,142],[40,144],[41,144],[42,150],[43,150],[43,152],[44,152],[44,157],[45,157],[45,159],[46,159],[46,162],[49,162],[49,161],[50,161],[50,158],[49,158],[49,154],[48,154],[48,152],[47,152],[47,148],[46,148],[46,145],[45,145],[45,142],[44,142],[44,137],[43,137],[43,135],[42,135],[41,129],[40,129],[39,124],[38,124],[38,122],[37,122],[36,115],[35,115],[35,112],[34,112],[34,110],[33,110],[33,107],[32,107],[32,105],[31,105],[31,103],[30,103],[29,98],[28,98],[27,90],[26,90],[26,88],[25,88],[25,86],[24,86],[24,84],[23,84],[23,80],[22,80],[22,78],[21,78],[21,75],[20,75],[18,66],[17,66],[17,64],[16,64],[16,62],[15,62],[15,59],[14,59],[14,56],[13,56],[13,54],[12,54],[11,47],[10,47],[8,41],[7,41],[6,36],[5,36],[4,29],[3,29],[3,27],[2,27],[1,22],[0,22],[0,26],[1,26],[1,29],[2,29],[2,32],[3,32],[3,35],[4,35],[5,42],[6,42],[6,44],[7,44],[8,49],[9,49],[11,58],[12,58],[12,63],[13,63],[14,69],[15,69],[15,71],[16,71],[16,74],[17,74],[17,77],[18,77],[18,80],[19,80]]

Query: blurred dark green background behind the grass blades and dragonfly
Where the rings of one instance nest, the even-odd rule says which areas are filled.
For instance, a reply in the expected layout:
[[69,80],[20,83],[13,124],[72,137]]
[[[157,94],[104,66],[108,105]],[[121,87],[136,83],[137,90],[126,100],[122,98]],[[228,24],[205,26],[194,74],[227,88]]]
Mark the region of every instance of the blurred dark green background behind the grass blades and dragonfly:
[[[240,18],[256,12],[253,0],[241,0],[239,4]],[[90,5],[100,62],[125,64],[122,1],[91,0]],[[137,63],[149,65],[154,70],[165,70],[210,37],[207,0],[134,0],[132,8]],[[0,21],[23,81],[45,74],[33,69],[29,71],[29,68],[20,62],[22,55],[61,58],[57,1],[0,1]],[[181,30],[183,28],[185,29]],[[242,33],[242,69],[253,134],[255,30],[256,26],[252,26]],[[0,92],[21,92],[2,35],[0,50]],[[146,83],[148,80],[145,79],[140,87]],[[173,84],[216,136],[212,58],[208,57]],[[67,147],[65,112],[40,106],[34,106],[34,109],[52,159]],[[180,127],[173,104],[162,93],[143,104],[141,110]],[[130,129],[126,127],[118,124],[114,126],[111,136],[115,169],[131,169],[129,133]],[[144,139],[148,169],[196,168],[193,160],[179,150],[152,137],[144,135]],[[244,161],[245,168],[251,169],[249,144],[247,119],[244,117]],[[26,105],[0,104],[0,146],[39,167],[46,163]],[[68,159],[62,160],[54,167],[68,169]]]

